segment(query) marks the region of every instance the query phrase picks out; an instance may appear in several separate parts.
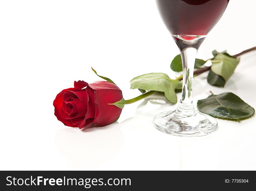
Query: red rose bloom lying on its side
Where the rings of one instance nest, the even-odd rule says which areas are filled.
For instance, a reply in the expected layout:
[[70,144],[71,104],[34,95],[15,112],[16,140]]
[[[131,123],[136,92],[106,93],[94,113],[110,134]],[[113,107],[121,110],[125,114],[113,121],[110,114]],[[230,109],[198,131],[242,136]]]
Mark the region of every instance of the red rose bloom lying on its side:
[[122,107],[113,105],[120,100],[123,100],[122,91],[113,83],[75,81],[74,88],[62,90],[56,96],[54,115],[70,127],[81,129],[92,122],[106,126],[120,116]]

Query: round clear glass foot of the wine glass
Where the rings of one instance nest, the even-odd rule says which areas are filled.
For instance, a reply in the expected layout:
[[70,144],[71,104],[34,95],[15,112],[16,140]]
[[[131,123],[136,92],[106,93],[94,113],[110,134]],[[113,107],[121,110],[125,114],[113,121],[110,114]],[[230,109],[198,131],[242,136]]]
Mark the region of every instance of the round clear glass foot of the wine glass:
[[183,137],[208,135],[217,130],[216,120],[194,111],[193,115],[182,115],[178,111],[159,113],[153,120],[155,128],[164,133]]

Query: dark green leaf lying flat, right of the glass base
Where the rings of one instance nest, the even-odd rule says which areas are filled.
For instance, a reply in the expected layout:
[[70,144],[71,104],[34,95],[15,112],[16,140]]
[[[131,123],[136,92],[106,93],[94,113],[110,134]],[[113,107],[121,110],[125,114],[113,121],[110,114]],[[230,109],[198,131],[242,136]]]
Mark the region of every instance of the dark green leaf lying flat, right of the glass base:
[[254,108],[230,92],[210,95],[206,99],[198,100],[197,108],[212,117],[236,121],[248,119],[255,112]]

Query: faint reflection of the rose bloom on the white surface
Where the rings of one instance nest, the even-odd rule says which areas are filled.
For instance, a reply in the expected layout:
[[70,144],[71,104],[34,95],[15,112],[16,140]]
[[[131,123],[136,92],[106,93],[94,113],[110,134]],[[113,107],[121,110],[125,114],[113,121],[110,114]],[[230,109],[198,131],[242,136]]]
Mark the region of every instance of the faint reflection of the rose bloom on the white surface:
[[55,144],[68,159],[70,167],[95,170],[112,158],[123,143],[124,137],[118,123],[83,131],[78,128],[60,129]]

